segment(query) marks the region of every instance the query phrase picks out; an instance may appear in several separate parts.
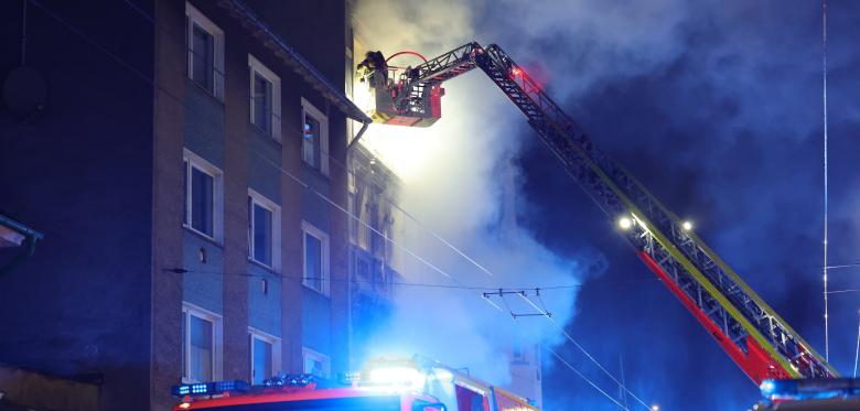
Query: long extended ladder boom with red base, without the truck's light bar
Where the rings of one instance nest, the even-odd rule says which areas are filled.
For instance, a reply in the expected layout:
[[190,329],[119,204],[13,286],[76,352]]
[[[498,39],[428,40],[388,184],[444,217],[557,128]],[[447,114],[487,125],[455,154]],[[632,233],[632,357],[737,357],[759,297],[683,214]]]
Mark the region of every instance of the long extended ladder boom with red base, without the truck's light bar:
[[[766,378],[837,376],[695,232],[685,229],[675,214],[594,148],[579,126],[497,45],[469,43],[402,71],[397,80],[377,83],[385,90],[376,93],[391,96],[393,106],[381,109],[438,118],[439,100],[432,97],[441,97],[441,83],[475,67],[526,115],[567,173],[610,218],[625,217],[633,223],[624,236],[638,257],[756,385]],[[424,107],[430,104],[437,108]],[[376,116],[374,119],[379,121]]]

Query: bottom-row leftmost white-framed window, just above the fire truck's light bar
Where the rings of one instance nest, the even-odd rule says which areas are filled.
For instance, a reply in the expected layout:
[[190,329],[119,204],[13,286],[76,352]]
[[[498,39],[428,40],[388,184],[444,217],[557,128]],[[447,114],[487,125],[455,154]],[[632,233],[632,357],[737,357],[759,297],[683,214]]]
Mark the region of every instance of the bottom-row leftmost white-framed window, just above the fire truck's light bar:
[[222,318],[198,306],[182,303],[182,380],[221,378]]

